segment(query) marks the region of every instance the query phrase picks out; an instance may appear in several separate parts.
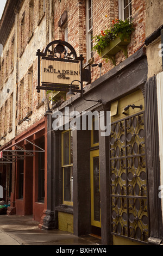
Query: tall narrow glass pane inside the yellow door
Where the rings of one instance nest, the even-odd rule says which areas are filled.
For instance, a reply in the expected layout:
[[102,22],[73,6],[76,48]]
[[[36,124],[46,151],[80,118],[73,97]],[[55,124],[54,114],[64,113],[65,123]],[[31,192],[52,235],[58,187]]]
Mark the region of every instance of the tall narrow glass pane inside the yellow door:
[[100,221],[99,157],[93,157],[94,220]]

